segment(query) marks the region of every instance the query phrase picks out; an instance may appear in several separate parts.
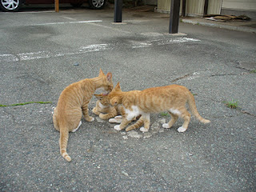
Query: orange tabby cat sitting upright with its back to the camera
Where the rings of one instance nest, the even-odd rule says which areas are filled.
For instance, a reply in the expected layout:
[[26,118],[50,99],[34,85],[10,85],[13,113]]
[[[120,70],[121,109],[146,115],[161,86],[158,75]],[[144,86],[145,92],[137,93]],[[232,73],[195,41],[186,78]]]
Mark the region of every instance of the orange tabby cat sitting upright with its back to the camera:
[[60,152],[66,161],[71,158],[66,153],[69,132],[78,130],[81,126],[82,114],[87,122],[94,121],[88,114],[88,104],[95,90],[110,92],[113,89],[112,74],[99,71],[97,78],[86,78],[67,86],[58,98],[58,105],[54,108],[54,127],[60,131]]

